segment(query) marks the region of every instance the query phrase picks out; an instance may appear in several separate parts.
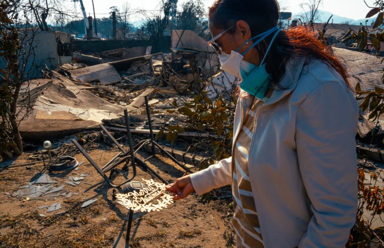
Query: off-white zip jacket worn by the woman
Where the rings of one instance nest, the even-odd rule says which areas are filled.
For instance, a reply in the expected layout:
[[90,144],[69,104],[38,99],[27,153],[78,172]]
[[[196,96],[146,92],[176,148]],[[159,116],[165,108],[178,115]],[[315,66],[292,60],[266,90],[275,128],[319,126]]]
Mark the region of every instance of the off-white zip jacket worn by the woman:
[[[265,247],[344,247],[357,208],[358,104],[319,60],[289,61],[256,111],[249,174]],[[234,140],[246,113],[236,107]],[[197,194],[232,182],[232,158],[191,175]]]

